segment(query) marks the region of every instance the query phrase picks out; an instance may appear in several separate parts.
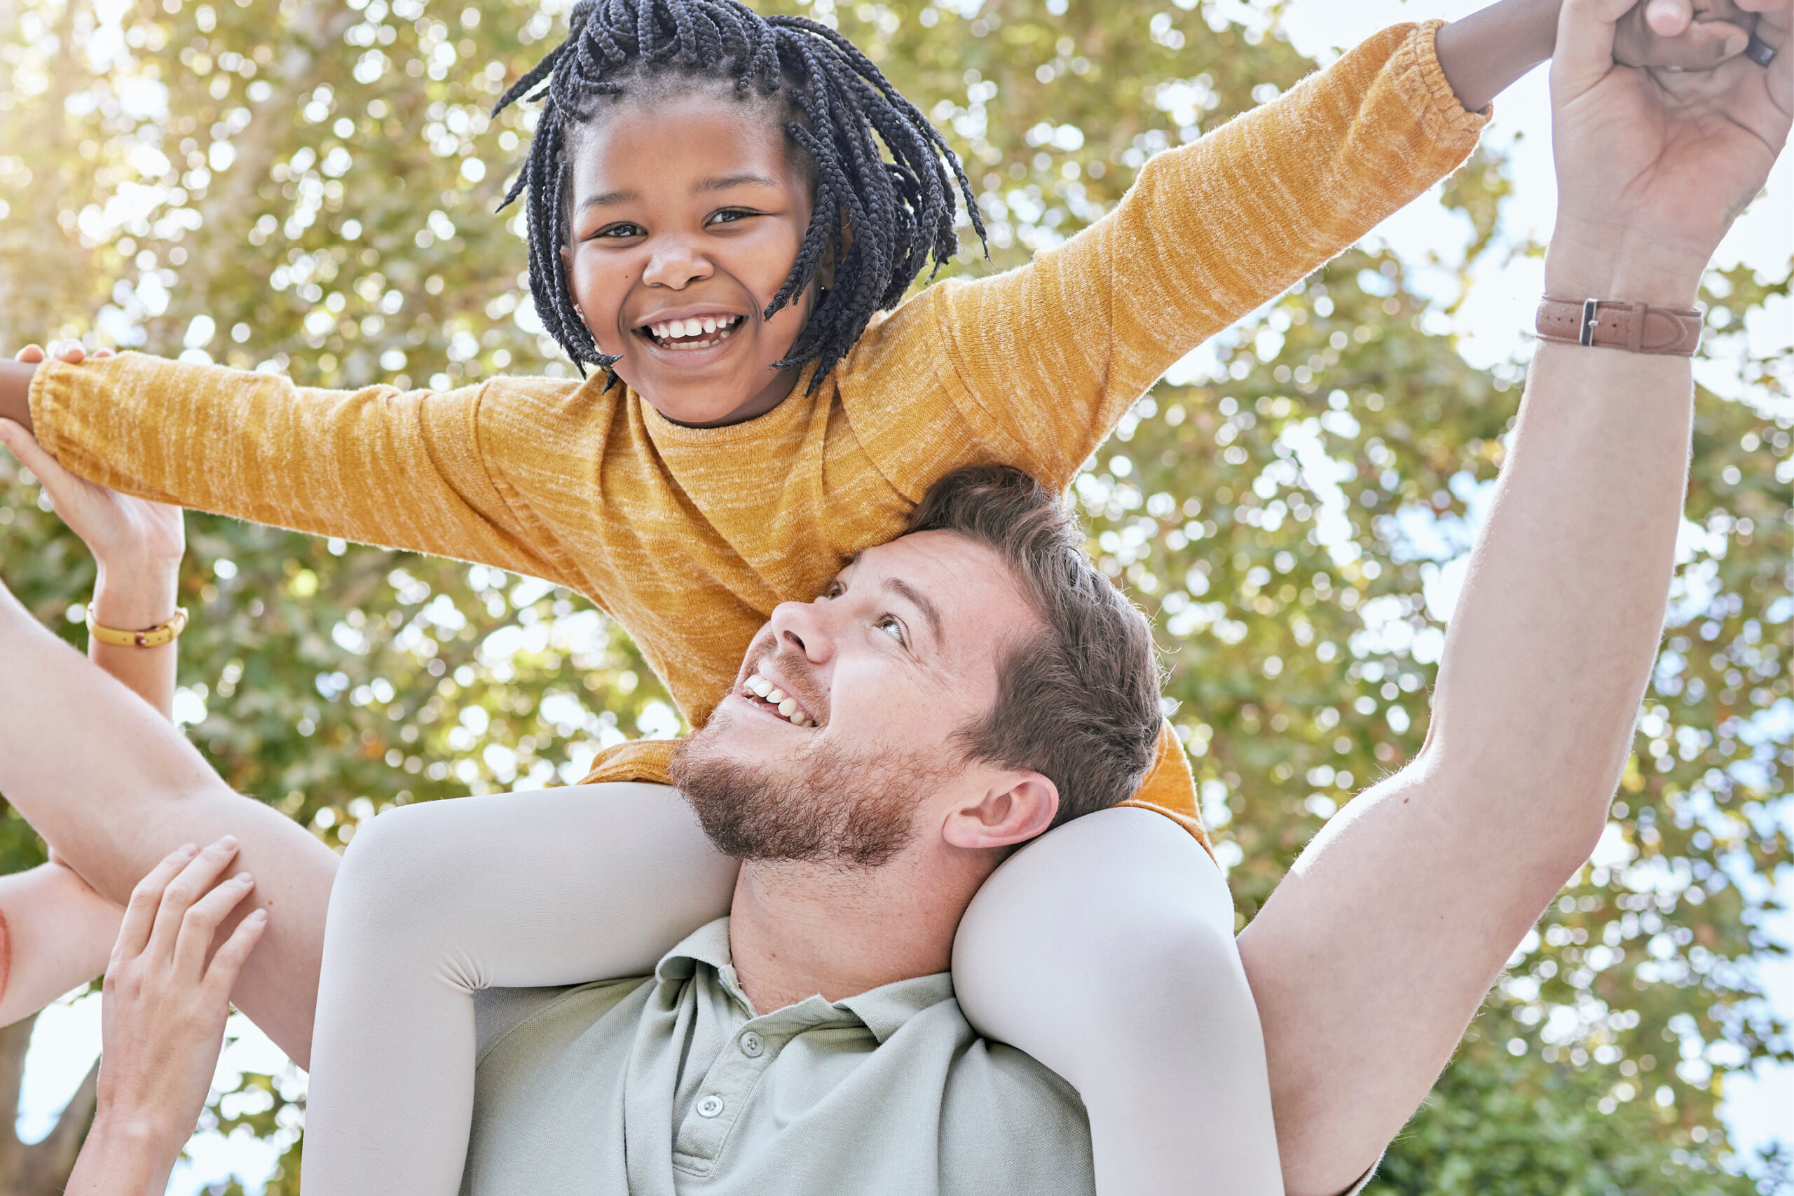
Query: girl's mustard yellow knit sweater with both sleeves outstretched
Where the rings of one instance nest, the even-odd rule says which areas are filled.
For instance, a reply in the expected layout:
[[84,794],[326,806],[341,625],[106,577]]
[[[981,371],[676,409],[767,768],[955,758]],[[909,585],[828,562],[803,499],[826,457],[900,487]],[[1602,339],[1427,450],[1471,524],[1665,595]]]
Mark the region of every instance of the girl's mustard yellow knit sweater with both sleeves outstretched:
[[[1387,29],[1155,156],[1066,244],[927,287],[814,394],[806,373],[734,427],[669,423],[597,378],[321,391],[136,353],[43,366],[32,421],[65,466],[145,498],[570,586],[701,724],[773,606],[902,531],[933,481],[1008,463],[1069,486],[1168,366],[1455,169],[1485,117],[1453,97],[1435,29]],[[667,757],[624,744],[588,780],[666,780]],[[1136,803],[1202,837],[1175,737]]]

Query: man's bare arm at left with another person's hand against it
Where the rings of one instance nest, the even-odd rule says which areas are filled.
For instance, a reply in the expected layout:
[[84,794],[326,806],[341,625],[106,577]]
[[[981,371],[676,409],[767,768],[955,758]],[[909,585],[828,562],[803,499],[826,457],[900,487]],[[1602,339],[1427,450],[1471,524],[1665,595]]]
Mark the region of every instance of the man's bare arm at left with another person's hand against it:
[[231,993],[301,1067],[335,854],[291,818],[231,793],[142,698],[0,586],[0,794],[106,900],[183,843],[235,836],[269,925]]

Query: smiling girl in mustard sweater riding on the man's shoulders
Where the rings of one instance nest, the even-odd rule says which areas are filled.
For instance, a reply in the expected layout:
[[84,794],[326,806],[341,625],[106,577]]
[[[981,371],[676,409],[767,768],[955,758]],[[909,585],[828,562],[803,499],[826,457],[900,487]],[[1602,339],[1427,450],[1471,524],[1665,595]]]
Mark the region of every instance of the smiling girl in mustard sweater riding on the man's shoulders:
[[[1494,52],[1457,43],[1459,74],[1476,59],[1512,77],[1548,52],[1548,11],[1541,18],[1527,0],[1502,11],[1507,25],[1487,18]],[[951,251],[949,197],[954,183],[965,190],[920,113],[850,45],[807,22],[761,22],[710,0],[581,4],[569,43],[518,88],[547,81],[549,97],[520,186],[529,190],[538,312],[576,360],[605,375],[445,394],[323,393],[124,355],[41,369],[30,416],[57,459],[133,493],[578,588],[631,631],[696,724],[766,613],[814,595],[856,550],[895,534],[933,479],[1006,461],[1069,484],[1166,366],[1455,167],[1482,117],[1455,95],[1437,30],[1378,34],[1274,104],[1161,154],[1116,212],[1028,267],[931,287],[879,319],[929,255]],[[1478,108],[1487,99],[1467,84],[1460,95]],[[895,163],[883,161],[879,142]],[[631,744],[603,757],[588,780],[666,780],[666,744]],[[1179,818],[1200,839],[1188,764],[1170,737],[1136,805]],[[522,807],[527,836],[558,864],[538,861],[527,873],[535,902],[581,893],[606,864],[703,855],[701,845],[676,841],[664,814],[631,823],[624,807],[621,796],[610,805],[556,794]],[[509,818],[499,818],[502,809],[475,803],[459,839],[440,855],[416,852],[452,861],[427,871],[440,886],[483,895],[488,909],[517,882],[511,873],[493,884],[486,866]],[[479,812],[493,814],[484,830]],[[1078,889],[1093,877],[1207,868],[1189,837],[1173,845],[1159,834],[1168,825],[1130,819],[1128,832],[1141,830],[1119,848],[1058,836],[1049,877],[1008,870],[1008,879],[1033,879],[988,888],[967,923],[1055,945],[1032,974],[978,975],[978,952],[965,949],[978,934],[962,936],[956,959],[974,1020],[1084,1094],[1109,1192],[1186,1176],[1188,1126],[1200,1124],[1191,1085],[1207,1058],[1197,1033],[1148,1033],[1197,1022],[1197,1011],[1177,1001],[1143,1008],[1128,979],[1177,956],[1204,911],[1116,900],[1119,889],[1107,884]],[[554,854],[567,843],[590,850]],[[1046,848],[1019,859],[1044,859]],[[658,888],[637,884],[624,913],[671,909],[694,889],[698,898],[727,893],[714,866],[696,873],[696,864],[649,870]],[[1039,929],[1067,889],[1080,891],[1087,923],[1102,932]],[[445,936],[457,932],[432,893],[405,898]],[[466,1105],[465,1085],[431,1085],[402,1126],[384,1112],[357,1122],[328,1112],[332,1083],[343,1085],[339,1110],[359,1099],[353,1074],[361,1096],[380,1092],[384,1106],[384,1083],[418,1074],[432,1054],[465,1058],[461,1079],[470,1081],[470,988],[617,974],[639,966],[642,938],[667,929],[619,914],[606,927],[617,941],[549,941],[544,950],[560,958],[517,961],[501,927],[515,931],[517,916],[538,909],[466,929],[468,941],[448,956],[463,968],[459,1004],[440,1026],[409,1018],[423,1006],[402,1002],[389,1013],[411,1024],[377,1018],[357,1033],[353,1018],[319,1022],[310,1144],[361,1142],[319,1153],[330,1191],[452,1191],[440,1160],[457,1162],[457,1153],[441,1142],[465,1140]],[[574,909],[590,920],[592,906]],[[495,931],[501,941],[474,941]],[[350,1004],[370,988],[368,968],[400,988],[405,975],[395,974],[414,970],[422,990],[440,988],[431,952],[414,943],[404,956],[335,959],[327,995],[341,983]],[[1055,977],[1060,992],[1066,977],[1094,981],[1078,1002],[1053,1010]],[[1110,1058],[1155,1065],[1114,1078],[1103,1074]],[[341,1174],[332,1158],[346,1160]],[[1254,1164],[1220,1185],[1267,1191],[1263,1176]]]

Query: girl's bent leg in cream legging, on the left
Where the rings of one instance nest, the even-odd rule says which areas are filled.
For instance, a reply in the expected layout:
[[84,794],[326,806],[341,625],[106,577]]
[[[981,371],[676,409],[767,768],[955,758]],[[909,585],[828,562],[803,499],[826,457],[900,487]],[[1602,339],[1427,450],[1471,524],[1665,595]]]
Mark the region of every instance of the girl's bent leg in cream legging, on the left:
[[734,884],[736,861],[666,785],[375,818],[330,897],[303,1191],[454,1196],[474,1115],[474,992],[646,975],[728,913]]

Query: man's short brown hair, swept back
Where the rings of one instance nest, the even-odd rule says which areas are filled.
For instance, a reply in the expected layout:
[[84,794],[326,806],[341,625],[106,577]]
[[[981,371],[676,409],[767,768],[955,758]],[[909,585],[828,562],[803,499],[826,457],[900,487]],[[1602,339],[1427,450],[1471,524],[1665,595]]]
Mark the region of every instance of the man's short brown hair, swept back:
[[996,705],[960,732],[967,755],[1051,780],[1055,827],[1134,796],[1163,724],[1152,628],[1091,561],[1066,502],[1021,470],[972,466],[929,486],[908,531],[992,549],[1044,624],[1003,651]]

